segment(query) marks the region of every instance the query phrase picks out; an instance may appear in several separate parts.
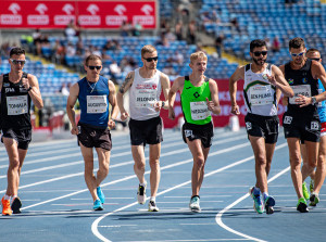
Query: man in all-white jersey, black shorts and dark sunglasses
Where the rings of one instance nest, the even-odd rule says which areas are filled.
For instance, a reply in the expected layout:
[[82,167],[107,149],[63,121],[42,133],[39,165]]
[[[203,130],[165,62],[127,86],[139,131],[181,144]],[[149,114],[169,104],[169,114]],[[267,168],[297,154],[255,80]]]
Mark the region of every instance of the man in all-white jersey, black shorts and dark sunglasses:
[[[149,164],[151,167],[150,184],[151,198],[148,203],[149,212],[159,212],[155,196],[160,183],[160,154],[163,141],[162,119],[160,110],[167,109],[166,101],[160,101],[161,92],[167,99],[170,90],[168,77],[156,69],[158,51],[153,46],[141,48],[141,61],[143,66],[130,72],[120,87],[117,104],[121,111],[121,119],[130,116],[129,129],[131,140],[131,153],[135,161],[134,170],[139,180],[137,200],[139,204],[146,202],[145,180],[145,145],[149,144]],[[129,90],[129,113],[124,106],[124,94]]]

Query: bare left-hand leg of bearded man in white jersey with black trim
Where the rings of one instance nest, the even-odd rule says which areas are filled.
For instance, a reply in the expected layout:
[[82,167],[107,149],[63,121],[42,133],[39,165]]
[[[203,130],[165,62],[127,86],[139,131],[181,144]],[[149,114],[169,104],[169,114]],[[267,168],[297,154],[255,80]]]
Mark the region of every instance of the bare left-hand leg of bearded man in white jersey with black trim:
[[255,178],[256,187],[261,192],[268,192],[267,176],[266,176],[266,150],[265,139],[263,137],[249,136],[249,140],[253,150],[255,160]]

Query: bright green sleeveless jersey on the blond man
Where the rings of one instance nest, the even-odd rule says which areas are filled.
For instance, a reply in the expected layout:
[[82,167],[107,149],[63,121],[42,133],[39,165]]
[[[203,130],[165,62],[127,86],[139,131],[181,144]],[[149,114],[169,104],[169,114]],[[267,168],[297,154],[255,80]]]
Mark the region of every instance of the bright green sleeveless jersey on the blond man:
[[208,109],[206,98],[212,100],[209,78],[200,87],[195,87],[189,76],[185,76],[185,85],[180,94],[185,122],[195,125],[205,125],[212,120]]

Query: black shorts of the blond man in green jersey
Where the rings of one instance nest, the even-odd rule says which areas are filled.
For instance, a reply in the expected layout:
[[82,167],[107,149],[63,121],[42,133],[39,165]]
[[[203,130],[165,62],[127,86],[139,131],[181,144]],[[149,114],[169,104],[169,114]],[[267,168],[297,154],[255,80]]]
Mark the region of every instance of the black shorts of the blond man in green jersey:
[[183,125],[183,138],[185,143],[187,143],[186,138],[188,138],[189,141],[200,139],[204,148],[210,148],[212,147],[213,136],[214,129],[212,122],[205,125],[193,125],[189,123]]

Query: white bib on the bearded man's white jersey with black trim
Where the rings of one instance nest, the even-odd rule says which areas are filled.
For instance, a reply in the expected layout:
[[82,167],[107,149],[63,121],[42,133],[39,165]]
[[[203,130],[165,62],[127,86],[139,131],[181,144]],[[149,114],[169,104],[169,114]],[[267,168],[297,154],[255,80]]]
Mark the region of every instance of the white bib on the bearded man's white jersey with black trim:
[[252,105],[272,104],[274,95],[271,86],[254,86],[250,88],[250,103]]

